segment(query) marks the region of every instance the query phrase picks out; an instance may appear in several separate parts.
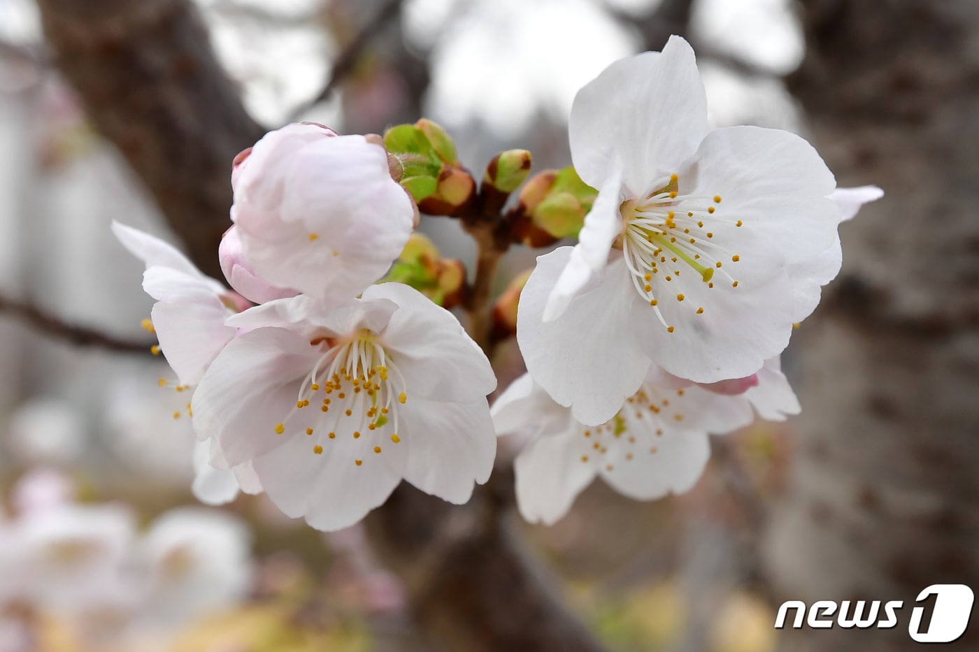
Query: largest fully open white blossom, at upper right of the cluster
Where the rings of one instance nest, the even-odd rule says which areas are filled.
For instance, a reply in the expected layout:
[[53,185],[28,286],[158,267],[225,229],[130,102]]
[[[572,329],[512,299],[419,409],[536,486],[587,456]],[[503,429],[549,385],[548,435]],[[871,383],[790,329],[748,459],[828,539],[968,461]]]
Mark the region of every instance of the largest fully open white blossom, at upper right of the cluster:
[[570,138],[599,194],[579,244],[540,256],[524,289],[517,337],[537,384],[598,424],[653,363],[713,383],[785,348],[839,269],[835,180],[812,146],[709,129],[676,36],[584,86]]

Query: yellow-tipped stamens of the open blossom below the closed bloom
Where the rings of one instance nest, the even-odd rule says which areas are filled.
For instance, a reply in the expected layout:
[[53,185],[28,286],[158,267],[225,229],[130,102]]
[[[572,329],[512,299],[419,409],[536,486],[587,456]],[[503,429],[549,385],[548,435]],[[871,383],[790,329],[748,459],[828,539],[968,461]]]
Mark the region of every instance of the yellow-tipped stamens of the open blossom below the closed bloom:
[[[275,433],[285,434],[286,424],[316,403],[319,410],[313,408],[313,416],[303,424],[305,434],[313,440],[313,453],[322,454],[324,446],[338,439],[352,439],[359,440],[358,448],[381,454],[382,440],[401,441],[397,407],[407,401],[404,377],[391,354],[367,329],[325,342],[329,348],[303,378],[296,407],[275,426]],[[354,463],[361,466],[363,457]]]

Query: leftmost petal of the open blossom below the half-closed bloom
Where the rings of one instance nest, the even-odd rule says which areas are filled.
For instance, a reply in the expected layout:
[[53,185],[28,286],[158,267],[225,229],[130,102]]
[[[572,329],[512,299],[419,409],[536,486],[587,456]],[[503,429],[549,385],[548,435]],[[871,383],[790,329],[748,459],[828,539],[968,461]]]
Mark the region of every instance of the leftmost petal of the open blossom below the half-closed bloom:
[[261,328],[232,340],[194,391],[198,438],[218,438],[228,464],[237,466],[302,432],[305,426],[298,420],[288,423],[282,435],[275,430],[295,410],[300,381],[321,354],[282,328]]

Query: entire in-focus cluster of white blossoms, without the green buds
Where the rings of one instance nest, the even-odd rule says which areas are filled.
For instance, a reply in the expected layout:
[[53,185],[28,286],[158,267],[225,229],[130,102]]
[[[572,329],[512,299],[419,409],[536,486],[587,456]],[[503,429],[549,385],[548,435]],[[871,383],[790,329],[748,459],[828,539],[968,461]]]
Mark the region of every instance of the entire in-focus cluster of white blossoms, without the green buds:
[[578,94],[571,150],[598,189],[579,242],[537,259],[495,401],[484,352],[417,290],[377,282],[417,224],[378,139],[287,125],[238,157],[220,247],[233,291],[122,225],[152,327],[192,394],[202,499],[264,490],[338,530],[403,479],[462,503],[496,435],[524,433],[522,514],[552,523],[595,476],[635,498],[689,489],[710,434],[799,404],[778,355],[839,272],[837,226],[879,189],[837,189],[802,138],[711,129],[681,38]]

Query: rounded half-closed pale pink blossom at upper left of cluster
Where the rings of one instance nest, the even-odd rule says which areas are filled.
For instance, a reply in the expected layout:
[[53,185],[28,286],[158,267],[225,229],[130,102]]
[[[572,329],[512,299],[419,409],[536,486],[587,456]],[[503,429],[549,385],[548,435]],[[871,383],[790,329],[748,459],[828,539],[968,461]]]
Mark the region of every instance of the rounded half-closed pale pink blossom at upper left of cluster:
[[326,302],[381,278],[414,227],[414,203],[391,177],[383,145],[322,125],[265,134],[235,169],[233,188],[248,267]]

